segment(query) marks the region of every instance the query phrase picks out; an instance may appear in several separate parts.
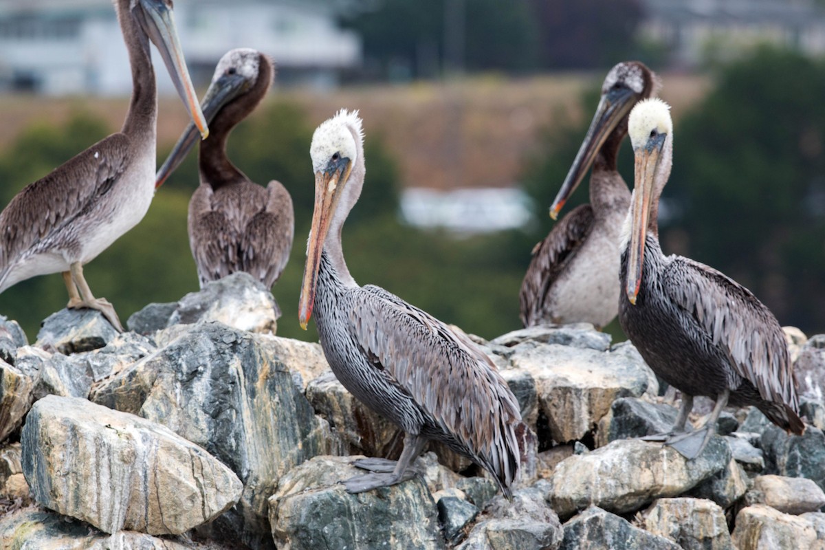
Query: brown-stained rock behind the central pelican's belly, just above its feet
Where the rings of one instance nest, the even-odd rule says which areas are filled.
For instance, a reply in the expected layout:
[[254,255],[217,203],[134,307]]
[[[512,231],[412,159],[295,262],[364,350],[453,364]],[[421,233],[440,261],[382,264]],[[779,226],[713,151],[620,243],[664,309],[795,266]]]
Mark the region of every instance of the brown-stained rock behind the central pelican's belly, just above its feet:
[[356,399],[332,372],[310,382],[306,397],[342,439],[347,454],[393,459],[401,454],[400,428]]

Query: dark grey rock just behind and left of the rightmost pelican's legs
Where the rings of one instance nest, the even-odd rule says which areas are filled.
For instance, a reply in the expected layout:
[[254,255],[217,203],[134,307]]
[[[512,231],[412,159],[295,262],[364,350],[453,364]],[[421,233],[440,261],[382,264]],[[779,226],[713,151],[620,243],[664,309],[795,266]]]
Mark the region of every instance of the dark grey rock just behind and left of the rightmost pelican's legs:
[[599,421],[596,447],[603,447],[614,440],[667,433],[676,422],[677,412],[675,407],[663,403],[620,397]]

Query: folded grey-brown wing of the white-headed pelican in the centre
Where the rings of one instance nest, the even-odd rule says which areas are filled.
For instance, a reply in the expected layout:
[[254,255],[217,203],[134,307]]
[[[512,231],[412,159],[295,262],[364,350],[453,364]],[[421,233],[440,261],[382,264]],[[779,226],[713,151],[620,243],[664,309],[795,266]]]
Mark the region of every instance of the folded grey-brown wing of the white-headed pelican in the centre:
[[521,413],[493,362],[429,313],[379,287],[362,290],[350,320],[365,355],[509,485],[517,471],[514,425]]

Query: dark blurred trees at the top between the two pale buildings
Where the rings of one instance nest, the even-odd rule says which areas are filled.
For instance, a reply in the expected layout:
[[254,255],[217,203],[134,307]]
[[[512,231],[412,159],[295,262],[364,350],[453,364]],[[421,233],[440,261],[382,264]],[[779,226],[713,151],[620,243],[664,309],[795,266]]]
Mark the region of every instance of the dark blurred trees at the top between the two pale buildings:
[[[361,35],[375,78],[434,78],[455,62],[469,71],[506,73],[609,67],[645,52],[634,37],[643,16],[639,0],[383,0],[375,6],[343,21]],[[449,51],[450,40],[462,54]],[[455,55],[463,59],[450,59]]]

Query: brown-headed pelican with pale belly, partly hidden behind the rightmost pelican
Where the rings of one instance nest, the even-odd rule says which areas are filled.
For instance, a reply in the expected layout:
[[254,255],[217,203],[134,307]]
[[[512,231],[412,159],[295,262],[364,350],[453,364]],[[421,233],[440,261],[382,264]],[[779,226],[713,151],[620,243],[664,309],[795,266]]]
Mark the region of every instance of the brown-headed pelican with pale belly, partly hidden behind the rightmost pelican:
[[590,204],[582,204],[556,223],[533,248],[521,283],[521,322],[591,322],[604,327],[618,312],[619,231],[630,191],[616,170],[616,156],[627,134],[630,109],[658,90],[658,78],[643,63],[619,63],[607,73],[601,101],[550,217],[559,211],[593,167]]

